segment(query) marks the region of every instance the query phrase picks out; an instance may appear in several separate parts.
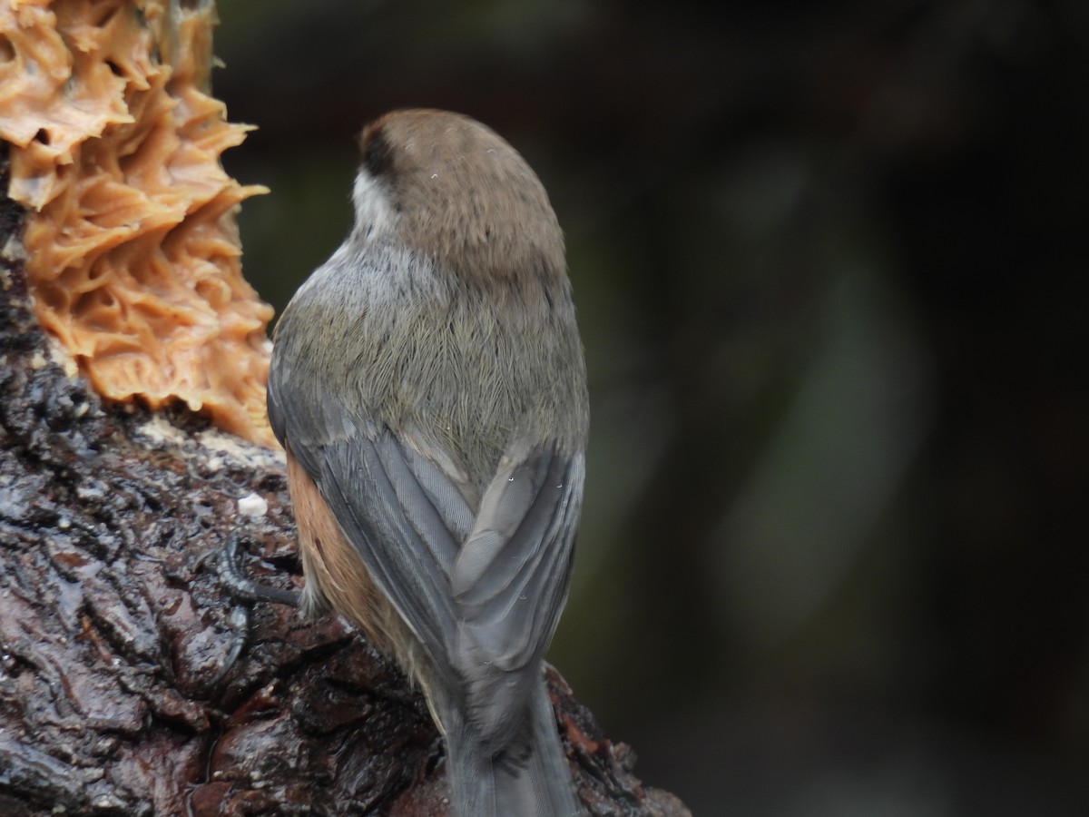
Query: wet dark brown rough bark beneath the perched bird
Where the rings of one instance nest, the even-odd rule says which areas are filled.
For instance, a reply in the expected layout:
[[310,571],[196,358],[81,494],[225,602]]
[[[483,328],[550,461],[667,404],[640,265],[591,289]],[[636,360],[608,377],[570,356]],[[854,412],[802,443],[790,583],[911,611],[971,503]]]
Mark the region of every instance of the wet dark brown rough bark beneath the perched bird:
[[[338,620],[218,577],[237,534],[250,573],[299,583],[282,461],[69,377],[22,218],[0,202],[0,814],[444,814],[442,744],[404,676]],[[264,514],[240,511],[250,495]],[[687,814],[551,682],[590,813]]]

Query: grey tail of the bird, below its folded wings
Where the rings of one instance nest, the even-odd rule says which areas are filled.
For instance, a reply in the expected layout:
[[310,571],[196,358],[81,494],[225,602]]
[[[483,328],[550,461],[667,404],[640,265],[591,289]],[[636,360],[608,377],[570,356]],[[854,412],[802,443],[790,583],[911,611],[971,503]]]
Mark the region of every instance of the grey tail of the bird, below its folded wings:
[[583,813],[543,678],[530,695],[526,714],[525,729],[512,745],[489,756],[461,712],[442,712],[446,768],[458,817],[575,817]]

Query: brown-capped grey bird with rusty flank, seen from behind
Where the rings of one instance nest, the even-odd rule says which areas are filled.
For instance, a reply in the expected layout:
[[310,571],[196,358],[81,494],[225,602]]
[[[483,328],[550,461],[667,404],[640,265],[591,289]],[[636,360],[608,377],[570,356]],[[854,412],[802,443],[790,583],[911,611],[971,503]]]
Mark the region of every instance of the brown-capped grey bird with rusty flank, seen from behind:
[[396,110],[359,150],[351,232],[273,336],[302,606],[420,687],[454,814],[582,814],[543,674],[589,424],[562,230],[469,117]]

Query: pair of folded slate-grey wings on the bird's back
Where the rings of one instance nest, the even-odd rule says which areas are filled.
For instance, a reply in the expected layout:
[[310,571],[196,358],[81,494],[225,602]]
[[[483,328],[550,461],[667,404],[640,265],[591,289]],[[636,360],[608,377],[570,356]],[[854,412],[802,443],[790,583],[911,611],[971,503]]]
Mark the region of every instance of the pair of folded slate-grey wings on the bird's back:
[[273,430],[470,719],[505,743],[566,597],[583,455],[512,446],[474,513],[445,452],[276,375]]

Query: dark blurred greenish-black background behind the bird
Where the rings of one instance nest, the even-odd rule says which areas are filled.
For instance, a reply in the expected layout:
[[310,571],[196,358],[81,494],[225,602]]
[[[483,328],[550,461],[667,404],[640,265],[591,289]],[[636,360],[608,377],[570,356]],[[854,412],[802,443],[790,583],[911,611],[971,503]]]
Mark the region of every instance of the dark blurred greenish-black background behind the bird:
[[390,108],[550,191],[594,405],[551,657],[649,784],[1089,814],[1089,3],[219,8],[278,309]]

